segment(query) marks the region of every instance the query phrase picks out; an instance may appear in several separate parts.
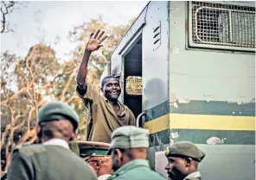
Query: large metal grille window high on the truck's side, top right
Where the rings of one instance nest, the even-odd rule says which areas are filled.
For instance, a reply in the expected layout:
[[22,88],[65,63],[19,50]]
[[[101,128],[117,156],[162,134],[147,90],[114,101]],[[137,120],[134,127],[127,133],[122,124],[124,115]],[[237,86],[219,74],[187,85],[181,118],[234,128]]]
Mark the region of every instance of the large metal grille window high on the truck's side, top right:
[[195,44],[255,47],[255,8],[225,3],[192,2]]

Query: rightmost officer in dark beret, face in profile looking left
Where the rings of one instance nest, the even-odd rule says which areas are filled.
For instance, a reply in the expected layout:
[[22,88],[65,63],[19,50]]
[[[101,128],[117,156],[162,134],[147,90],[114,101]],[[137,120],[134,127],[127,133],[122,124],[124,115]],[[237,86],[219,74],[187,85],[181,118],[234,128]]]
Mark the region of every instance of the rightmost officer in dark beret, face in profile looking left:
[[165,155],[168,158],[165,170],[172,180],[201,180],[197,168],[205,153],[193,143],[189,141],[173,143],[167,147]]

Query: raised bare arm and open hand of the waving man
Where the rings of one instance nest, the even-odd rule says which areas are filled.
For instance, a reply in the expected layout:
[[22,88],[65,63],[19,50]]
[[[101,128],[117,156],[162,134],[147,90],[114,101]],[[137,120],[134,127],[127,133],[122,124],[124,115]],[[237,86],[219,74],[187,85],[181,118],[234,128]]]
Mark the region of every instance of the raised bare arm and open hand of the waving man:
[[77,84],[80,89],[86,90],[86,75],[87,75],[87,65],[90,58],[90,55],[93,51],[96,51],[99,49],[99,47],[103,47],[100,43],[103,40],[106,40],[107,35],[102,37],[105,32],[100,30],[97,31],[97,33],[94,35],[92,33],[90,35],[90,39],[86,44],[85,53],[83,56],[83,59],[80,63],[79,71],[76,77]]

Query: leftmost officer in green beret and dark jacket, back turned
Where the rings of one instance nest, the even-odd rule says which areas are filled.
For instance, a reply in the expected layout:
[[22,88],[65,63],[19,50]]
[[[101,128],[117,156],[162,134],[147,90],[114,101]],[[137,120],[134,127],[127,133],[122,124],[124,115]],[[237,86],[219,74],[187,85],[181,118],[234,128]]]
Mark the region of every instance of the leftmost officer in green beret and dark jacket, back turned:
[[71,152],[79,117],[66,103],[50,102],[38,113],[38,145],[22,146],[12,156],[9,180],[97,180],[89,164]]

